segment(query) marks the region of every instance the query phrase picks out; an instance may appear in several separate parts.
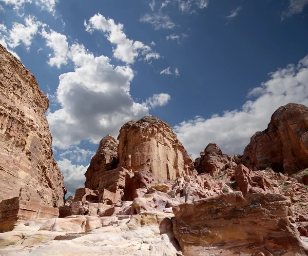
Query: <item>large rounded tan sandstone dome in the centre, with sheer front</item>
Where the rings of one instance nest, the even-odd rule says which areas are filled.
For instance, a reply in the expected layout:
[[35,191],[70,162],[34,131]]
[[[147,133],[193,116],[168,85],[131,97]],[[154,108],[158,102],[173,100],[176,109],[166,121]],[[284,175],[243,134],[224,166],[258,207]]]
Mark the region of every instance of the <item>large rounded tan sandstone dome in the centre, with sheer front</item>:
[[150,171],[159,179],[174,180],[194,171],[194,162],[172,128],[153,116],[130,121],[120,130],[119,166]]

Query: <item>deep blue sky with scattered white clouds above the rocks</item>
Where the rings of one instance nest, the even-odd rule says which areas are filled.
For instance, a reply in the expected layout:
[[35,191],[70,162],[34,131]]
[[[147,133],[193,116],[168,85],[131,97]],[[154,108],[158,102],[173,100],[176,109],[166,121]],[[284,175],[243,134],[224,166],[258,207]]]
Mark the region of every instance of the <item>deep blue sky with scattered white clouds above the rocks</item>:
[[0,0],[0,44],[49,98],[67,195],[132,119],[164,120],[195,159],[308,106],[308,0]]

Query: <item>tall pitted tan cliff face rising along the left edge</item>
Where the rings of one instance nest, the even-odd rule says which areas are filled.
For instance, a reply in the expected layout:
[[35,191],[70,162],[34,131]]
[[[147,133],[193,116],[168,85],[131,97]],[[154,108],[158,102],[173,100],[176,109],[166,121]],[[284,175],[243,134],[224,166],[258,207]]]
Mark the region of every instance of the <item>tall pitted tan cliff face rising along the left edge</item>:
[[33,74],[0,45],[1,200],[28,185],[42,204],[63,205],[66,188],[51,150],[48,106]]

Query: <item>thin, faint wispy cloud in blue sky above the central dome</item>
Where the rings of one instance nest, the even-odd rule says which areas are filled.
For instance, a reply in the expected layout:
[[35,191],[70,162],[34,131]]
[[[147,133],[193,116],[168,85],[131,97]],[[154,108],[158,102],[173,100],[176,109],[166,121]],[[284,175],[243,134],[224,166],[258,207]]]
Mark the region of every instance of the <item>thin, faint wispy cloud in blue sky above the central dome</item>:
[[155,30],[172,29],[176,26],[167,14],[160,12],[152,14],[146,13],[140,18],[140,21],[151,24]]

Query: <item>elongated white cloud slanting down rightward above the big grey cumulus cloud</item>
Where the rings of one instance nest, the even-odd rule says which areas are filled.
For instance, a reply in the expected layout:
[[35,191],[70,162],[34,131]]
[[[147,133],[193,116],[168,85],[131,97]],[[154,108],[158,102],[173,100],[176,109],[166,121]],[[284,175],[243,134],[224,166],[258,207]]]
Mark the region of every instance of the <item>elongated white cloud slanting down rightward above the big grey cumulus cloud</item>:
[[[132,41],[126,37],[123,32],[123,24],[115,24],[112,18],[106,19],[100,13],[95,14],[89,19],[89,24],[84,22],[86,31],[93,32],[94,30],[99,30],[106,33],[108,41],[115,44],[117,47],[113,49],[113,56],[119,60],[126,63],[133,63],[139,55],[146,55],[152,53],[152,49],[144,45],[140,41]],[[159,57],[160,55],[156,53],[155,55]],[[148,58],[150,55],[148,55]]]

